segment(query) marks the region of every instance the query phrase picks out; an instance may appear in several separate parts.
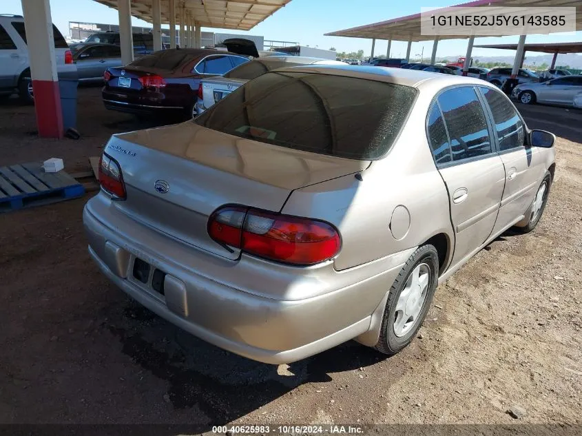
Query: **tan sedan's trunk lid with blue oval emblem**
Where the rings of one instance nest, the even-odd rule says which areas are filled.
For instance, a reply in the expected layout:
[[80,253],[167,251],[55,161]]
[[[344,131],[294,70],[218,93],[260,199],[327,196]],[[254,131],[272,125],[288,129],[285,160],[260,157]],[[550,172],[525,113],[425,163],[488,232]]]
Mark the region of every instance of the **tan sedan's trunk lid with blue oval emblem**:
[[229,259],[207,233],[218,207],[280,211],[293,189],[365,169],[369,160],[324,156],[216,132],[191,121],[112,136],[105,152],[121,165],[125,201],[112,205],[138,222]]

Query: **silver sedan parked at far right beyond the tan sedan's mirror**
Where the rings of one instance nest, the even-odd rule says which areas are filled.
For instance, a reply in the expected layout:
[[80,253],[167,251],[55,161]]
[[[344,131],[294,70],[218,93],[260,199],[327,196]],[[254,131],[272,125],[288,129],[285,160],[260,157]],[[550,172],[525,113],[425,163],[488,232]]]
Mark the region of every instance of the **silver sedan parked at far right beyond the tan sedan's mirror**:
[[545,82],[517,85],[512,96],[521,103],[548,103],[552,105],[574,106],[574,97],[582,92],[582,75],[565,76]]

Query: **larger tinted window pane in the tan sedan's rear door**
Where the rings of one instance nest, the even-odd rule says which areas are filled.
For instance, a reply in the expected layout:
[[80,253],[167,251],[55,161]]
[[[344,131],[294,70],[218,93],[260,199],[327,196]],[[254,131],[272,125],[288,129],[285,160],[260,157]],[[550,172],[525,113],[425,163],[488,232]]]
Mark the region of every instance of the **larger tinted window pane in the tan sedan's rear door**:
[[492,152],[483,107],[472,87],[447,90],[438,101],[450,138],[453,161]]

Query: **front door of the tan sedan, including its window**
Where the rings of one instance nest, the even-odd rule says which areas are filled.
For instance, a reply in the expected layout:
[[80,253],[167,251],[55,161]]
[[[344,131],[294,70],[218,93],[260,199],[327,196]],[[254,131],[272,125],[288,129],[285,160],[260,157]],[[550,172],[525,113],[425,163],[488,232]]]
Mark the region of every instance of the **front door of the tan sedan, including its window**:
[[526,125],[509,99],[489,87],[479,87],[493,127],[495,147],[505,170],[505,187],[494,233],[523,217],[545,173],[539,150],[526,147]]

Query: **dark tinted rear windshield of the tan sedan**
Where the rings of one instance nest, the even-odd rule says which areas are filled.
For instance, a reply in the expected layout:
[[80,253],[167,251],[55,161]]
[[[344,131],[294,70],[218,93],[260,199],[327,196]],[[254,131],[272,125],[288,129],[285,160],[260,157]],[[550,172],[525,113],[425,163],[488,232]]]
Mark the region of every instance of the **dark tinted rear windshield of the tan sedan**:
[[399,134],[416,90],[353,77],[270,72],[195,122],[234,136],[343,158],[375,159]]

